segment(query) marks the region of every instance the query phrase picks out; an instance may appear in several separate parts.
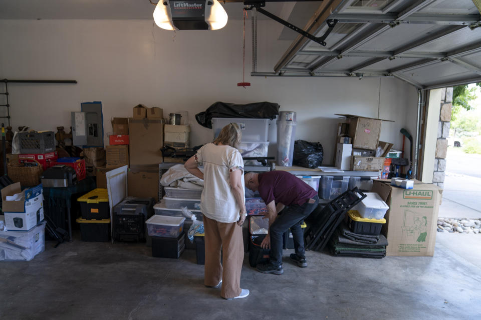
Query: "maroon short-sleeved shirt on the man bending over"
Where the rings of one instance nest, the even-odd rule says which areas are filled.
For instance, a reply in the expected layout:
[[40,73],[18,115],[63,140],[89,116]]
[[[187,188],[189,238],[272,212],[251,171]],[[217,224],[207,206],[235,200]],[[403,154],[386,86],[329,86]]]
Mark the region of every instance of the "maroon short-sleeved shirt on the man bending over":
[[285,205],[306,203],[317,195],[309,184],[287,171],[259,173],[259,193],[266,204],[275,200]]

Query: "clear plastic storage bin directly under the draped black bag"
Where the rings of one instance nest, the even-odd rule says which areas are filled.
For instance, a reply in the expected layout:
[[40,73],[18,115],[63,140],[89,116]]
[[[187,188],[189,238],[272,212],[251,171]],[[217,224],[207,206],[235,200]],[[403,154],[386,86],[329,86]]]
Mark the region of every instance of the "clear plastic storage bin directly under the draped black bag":
[[214,138],[216,138],[224,126],[229,123],[237,123],[244,141],[266,142],[270,121],[271,119],[212,118],[212,130]]

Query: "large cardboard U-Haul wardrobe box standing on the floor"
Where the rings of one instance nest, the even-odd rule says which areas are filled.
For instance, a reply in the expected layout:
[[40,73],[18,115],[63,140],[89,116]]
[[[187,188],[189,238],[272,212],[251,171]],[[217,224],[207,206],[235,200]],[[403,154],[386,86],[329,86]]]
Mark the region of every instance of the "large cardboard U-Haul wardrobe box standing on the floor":
[[441,194],[432,183],[414,181],[412,189],[374,180],[377,192],[389,205],[381,232],[387,237],[387,255],[432,256],[436,241],[437,214]]

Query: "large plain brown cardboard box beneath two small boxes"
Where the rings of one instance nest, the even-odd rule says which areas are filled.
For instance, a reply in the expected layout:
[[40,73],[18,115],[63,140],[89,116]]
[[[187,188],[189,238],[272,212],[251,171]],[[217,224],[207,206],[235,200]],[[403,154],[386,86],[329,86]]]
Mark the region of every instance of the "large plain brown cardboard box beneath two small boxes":
[[162,162],[164,119],[129,119],[130,165]]

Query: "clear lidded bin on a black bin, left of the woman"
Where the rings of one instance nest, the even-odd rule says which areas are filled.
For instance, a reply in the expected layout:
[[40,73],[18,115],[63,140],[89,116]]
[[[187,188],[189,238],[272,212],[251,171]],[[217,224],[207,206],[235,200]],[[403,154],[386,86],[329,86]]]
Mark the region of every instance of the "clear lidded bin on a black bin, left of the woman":
[[147,231],[152,237],[152,256],[178,258],[185,249],[184,217],[152,215]]

